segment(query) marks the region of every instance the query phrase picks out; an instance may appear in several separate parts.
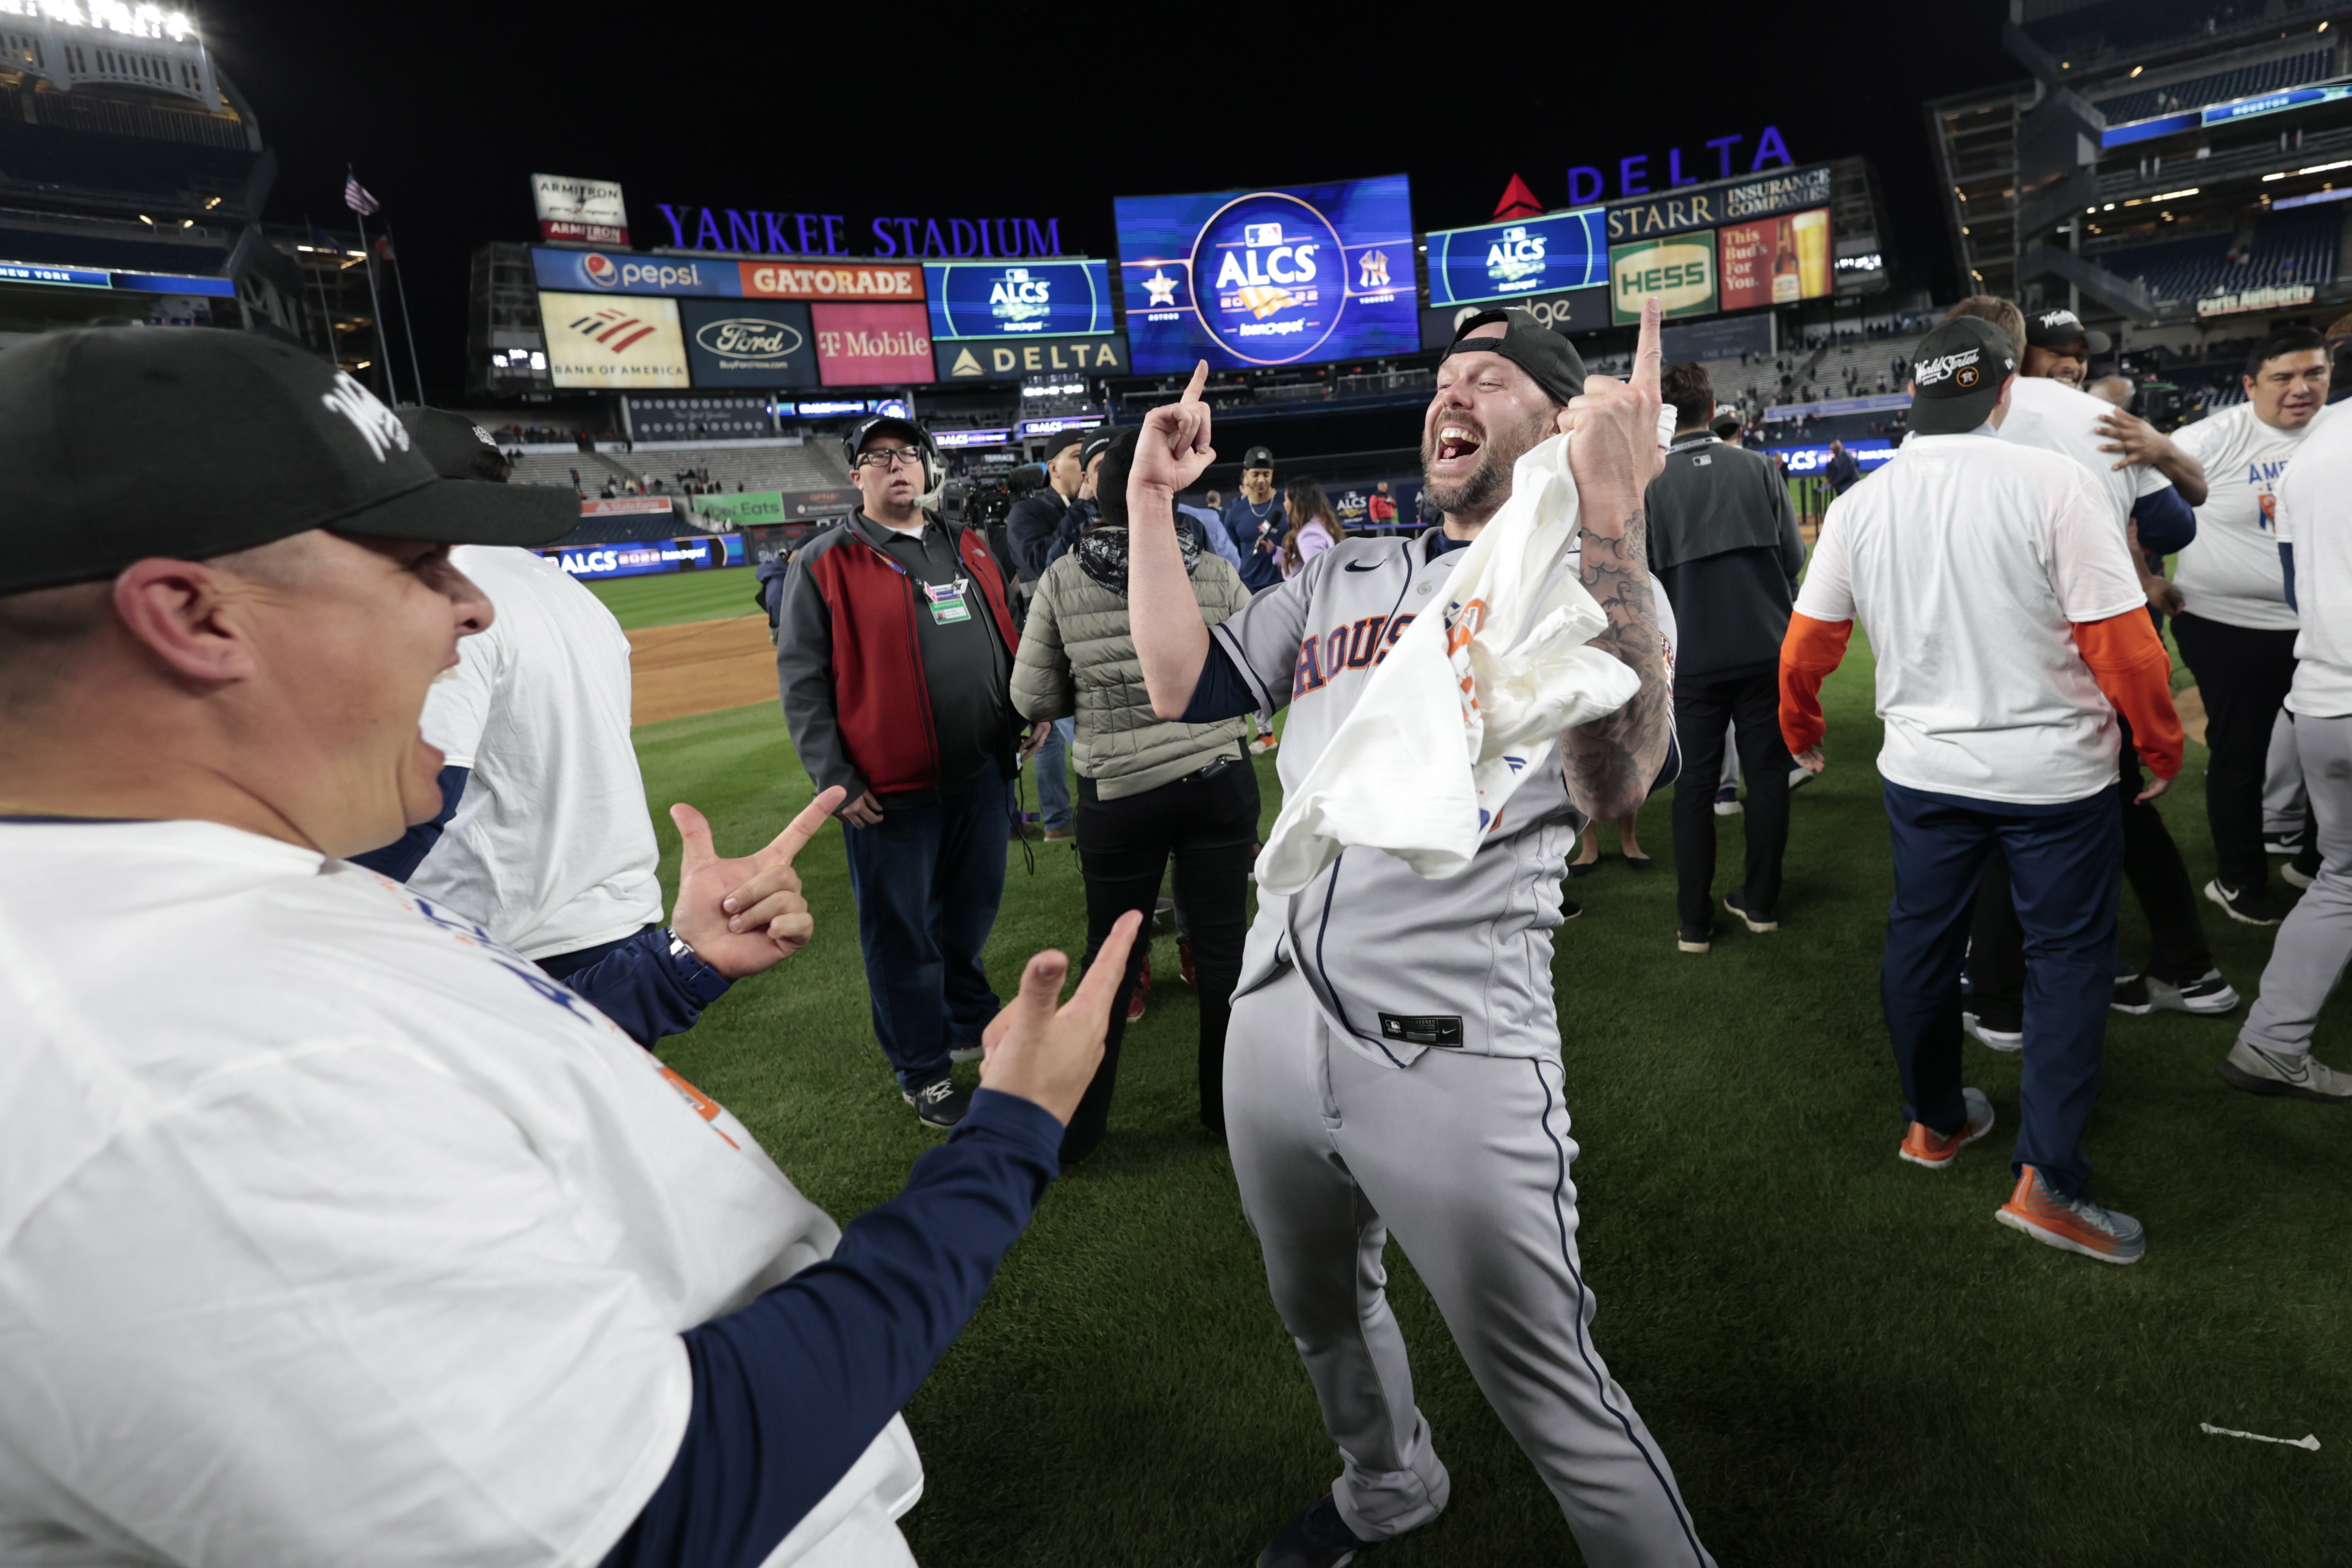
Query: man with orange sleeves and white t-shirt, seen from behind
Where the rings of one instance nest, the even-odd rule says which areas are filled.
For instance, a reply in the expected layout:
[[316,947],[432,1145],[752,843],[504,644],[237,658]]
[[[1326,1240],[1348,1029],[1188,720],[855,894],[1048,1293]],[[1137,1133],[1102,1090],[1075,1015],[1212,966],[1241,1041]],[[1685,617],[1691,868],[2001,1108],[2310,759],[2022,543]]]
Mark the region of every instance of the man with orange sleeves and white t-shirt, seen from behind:
[[2025,1072],[1997,1218],[2136,1262],[2140,1222],[2093,1204],[2082,1131],[2114,990],[2124,870],[2117,715],[2154,780],[2180,771],[2171,656],[2114,510],[2072,458],[1999,440],[2018,355],[1957,317],[1919,343],[1912,435],[1830,505],[1780,646],[1780,731],[1820,769],[1820,682],[1860,621],[1877,656],[1893,827],[1882,999],[1910,1121],[1898,1157],[1940,1171],[1992,1131],[1962,1084],[1959,971],[1994,844],[2027,940]]

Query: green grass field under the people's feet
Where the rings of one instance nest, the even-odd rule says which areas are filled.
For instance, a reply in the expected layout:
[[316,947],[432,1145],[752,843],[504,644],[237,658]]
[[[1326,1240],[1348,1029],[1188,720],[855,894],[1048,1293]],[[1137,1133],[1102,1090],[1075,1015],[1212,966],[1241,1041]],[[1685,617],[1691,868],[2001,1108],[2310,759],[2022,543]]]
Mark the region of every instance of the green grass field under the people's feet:
[[[670,583],[642,592],[656,588]],[[1675,1462],[1700,1537],[1726,1566],[2352,1559],[2336,1502],[2352,1481],[2338,1208],[2352,1112],[2225,1088],[2213,1067],[2234,1020],[2117,1016],[2089,1145],[2096,1192],[2147,1225],[2131,1269],[1992,1222],[2009,1190],[2013,1056],[1969,1046],[1971,1081],[2002,1117],[1990,1143],[1940,1173],[1900,1164],[1877,1001],[1889,851],[1860,644],[1825,708],[1830,771],[1795,804],[1776,936],[1675,952],[1663,802],[1644,813],[1658,870],[1611,860],[1571,884],[1585,914],[1559,931],[1595,1338]],[[637,743],[666,884],[673,799],[710,813],[722,853],[746,853],[811,795],[774,705],[644,726]],[[2201,764],[2192,748],[2166,806],[2199,884]],[[1272,820],[1272,759],[1258,769]],[[1736,863],[1738,820],[1719,839]],[[1035,856],[1030,875],[1011,853],[988,954],[1000,990],[1033,950],[1084,940],[1075,851]],[[901,1105],[868,1027],[840,835],[802,867],[816,940],[663,1056],[849,1218],[891,1197],[936,1135]],[[2145,929],[2124,907],[2124,952],[2138,957]],[[2218,910],[2209,926],[2223,973],[2251,994],[2270,933]],[[1162,938],[1110,1143],[1047,1197],[908,1408],[929,1488],[906,1533],[929,1568],[1244,1566],[1336,1474],[1225,1154],[1192,1121],[1195,1004],[1174,969]],[[2347,1018],[2338,999],[2321,1025],[2338,1065],[2352,1065]],[[1578,1561],[1397,1248],[1390,1269],[1454,1502],[1367,1561]],[[2324,1448],[2204,1436],[2199,1422],[2317,1432]]]

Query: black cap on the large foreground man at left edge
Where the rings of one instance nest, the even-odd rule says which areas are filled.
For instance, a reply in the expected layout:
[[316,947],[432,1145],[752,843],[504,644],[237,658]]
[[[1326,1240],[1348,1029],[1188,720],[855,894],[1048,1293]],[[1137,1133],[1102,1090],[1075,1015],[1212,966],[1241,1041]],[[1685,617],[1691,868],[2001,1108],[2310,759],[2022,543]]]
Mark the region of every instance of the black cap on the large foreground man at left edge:
[[223,327],[80,327],[0,353],[0,595],[336,529],[543,545],[557,487],[449,484],[365,386]]

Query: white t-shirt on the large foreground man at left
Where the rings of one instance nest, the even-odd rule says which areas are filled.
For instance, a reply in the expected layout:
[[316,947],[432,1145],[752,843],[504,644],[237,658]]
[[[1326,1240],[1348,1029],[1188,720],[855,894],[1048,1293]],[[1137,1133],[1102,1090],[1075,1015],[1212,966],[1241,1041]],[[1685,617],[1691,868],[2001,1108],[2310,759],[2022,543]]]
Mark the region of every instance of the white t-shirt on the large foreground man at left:
[[[840,1237],[470,919],[235,827],[0,823],[0,1018],[9,1568],[593,1566],[677,1335]],[[804,1561],[910,1563],[920,1479],[894,1422]]]

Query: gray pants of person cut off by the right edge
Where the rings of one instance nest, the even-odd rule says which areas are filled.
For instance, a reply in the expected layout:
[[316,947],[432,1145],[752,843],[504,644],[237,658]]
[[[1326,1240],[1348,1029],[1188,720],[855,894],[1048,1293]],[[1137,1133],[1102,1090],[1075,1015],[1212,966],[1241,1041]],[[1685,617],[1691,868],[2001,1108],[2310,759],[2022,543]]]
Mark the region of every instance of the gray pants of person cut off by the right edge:
[[2263,994],[2239,1039],[2260,1051],[2303,1056],[2328,992],[2352,961],[2352,717],[2296,715],[2303,788],[2319,818],[2319,877],[2286,912],[2263,969]]

